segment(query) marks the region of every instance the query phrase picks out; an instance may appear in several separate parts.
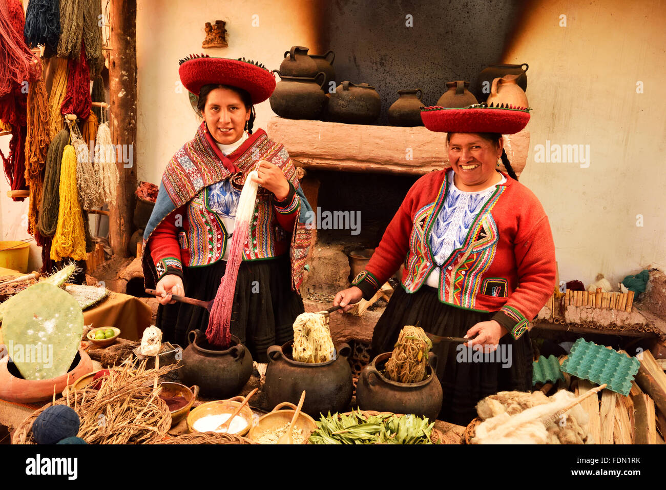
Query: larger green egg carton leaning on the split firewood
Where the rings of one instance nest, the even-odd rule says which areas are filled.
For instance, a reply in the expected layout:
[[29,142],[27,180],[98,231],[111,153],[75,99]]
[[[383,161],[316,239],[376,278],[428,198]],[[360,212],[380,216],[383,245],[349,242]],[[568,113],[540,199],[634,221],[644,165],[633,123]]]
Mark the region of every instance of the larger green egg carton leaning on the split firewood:
[[609,390],[627,396],[640,365],[635,357],[578,339],[560,369],[597,385],[605,383]]

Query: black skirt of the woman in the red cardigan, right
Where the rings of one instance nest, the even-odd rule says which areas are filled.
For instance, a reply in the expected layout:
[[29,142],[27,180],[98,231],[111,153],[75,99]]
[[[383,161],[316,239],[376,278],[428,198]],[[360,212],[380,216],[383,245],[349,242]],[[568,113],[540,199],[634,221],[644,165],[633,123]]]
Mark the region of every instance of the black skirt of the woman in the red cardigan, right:
[[[418,325],[440,337],[464,337],[468,329],[492,316],[442,303],[433,287],[424,285],[414,294],[399,287],[375,326],[372,356],[392,351],[405,325]],[[452,342],[434,343],[432,351],[438,357],[436,371],[444,392],[439,418],[444,421],[468,425],[477,416],[476,403],[484,397],[531,389],[532,347],[527,332],[517,340],[504,335],[497,351],[483,357]]]

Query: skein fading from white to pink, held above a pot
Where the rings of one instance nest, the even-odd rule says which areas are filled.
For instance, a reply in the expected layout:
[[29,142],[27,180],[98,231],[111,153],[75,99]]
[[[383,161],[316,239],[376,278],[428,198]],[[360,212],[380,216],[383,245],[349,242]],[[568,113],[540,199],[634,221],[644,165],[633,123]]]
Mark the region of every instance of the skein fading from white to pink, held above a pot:
[[229,257],[226,261],[226,270],[217,289],[212,308],[210,309],[206,338],[212,345],[220,347],[228,347],[231,343],[231,331],[229,328],[231,323],[231,307],[234,303],[234,293],[236,292],[238,267],[240,267],[240,262],[243,258],[244,245],[249,238],[250,220],[254,215],[258,185],[253,180],[253,177],[257,175],[256,170],[251,171],[246,177],[243,189],[240,192],[238,209],[236,209],[234,234],[231,238]]

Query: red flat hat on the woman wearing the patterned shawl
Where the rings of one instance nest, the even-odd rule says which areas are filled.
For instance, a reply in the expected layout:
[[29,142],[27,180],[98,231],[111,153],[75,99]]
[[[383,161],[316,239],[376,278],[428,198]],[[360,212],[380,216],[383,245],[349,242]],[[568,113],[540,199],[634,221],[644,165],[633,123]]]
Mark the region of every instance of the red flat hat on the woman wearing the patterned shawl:
[[264,65],[244,58],[190,55],[180,60],[178,75],[182,85],[194,95],[199,95],[201,87],[209,83],[230,85],[248,91],[252,104],[265,101],[275,90],[275,75]]

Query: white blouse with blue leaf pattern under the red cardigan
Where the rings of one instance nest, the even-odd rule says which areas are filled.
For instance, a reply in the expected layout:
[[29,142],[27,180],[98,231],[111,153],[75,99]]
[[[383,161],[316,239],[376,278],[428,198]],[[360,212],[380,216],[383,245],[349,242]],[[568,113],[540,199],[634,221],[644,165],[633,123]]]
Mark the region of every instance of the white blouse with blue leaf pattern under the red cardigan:
[[[506,182],[506,177],[501,176],[501,181],[482,191],[461,191],[456,187],[454,171],[448,171],[446,177],[450,180],[446,200],[440,208],[435,223],[430,232],[430,249],[436,265],[441,266],[454,250],[460,248],[464,243],[476,215],[484,207],[490,196],[495,192],[498,185]],[[440,267],[436,267],[426,279],[426,284],[432,287],[440,285]]]

